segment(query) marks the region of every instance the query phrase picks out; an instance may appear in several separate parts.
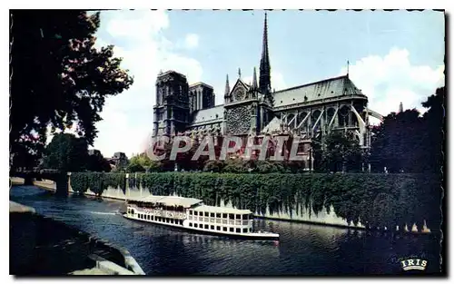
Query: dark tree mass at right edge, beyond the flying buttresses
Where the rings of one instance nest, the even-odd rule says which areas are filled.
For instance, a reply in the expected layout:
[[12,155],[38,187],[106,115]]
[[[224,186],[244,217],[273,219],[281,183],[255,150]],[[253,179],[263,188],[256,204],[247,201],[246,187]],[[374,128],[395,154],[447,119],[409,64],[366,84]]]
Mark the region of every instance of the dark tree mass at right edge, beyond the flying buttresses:
[[372,129],[370,162],[374,171],[431,172],[441,174],[444,128],[446,125],[445,88],[439,88],[416,110],[390,113]]

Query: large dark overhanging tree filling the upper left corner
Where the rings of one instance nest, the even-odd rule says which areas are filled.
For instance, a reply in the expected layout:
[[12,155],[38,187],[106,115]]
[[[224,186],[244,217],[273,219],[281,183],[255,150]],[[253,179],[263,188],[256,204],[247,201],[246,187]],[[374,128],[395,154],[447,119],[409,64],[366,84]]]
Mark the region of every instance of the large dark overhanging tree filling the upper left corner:
[[[13,10],[10,17],[10,153],[29,163],[44,151],[47,127],[74,130],[93,144],[106,97],[133,78],[113,45],[94,48],[99,13]],[[24,158],[30,156],[30,159]]]

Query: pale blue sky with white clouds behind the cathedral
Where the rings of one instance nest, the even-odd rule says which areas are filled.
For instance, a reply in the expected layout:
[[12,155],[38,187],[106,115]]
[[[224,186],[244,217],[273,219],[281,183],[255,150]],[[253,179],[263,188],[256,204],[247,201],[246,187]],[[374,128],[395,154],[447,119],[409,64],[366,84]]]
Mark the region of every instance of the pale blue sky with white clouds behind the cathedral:
[[[277,90],[345,74],[387,115],[423,111],[421,102],[444,85],[444,15],[423,11],[268,11],[271,86]],[[143,152],[153,131],[157,74],[174,70],[188,83],[213,86],[223,100],[225,77],[251,80],[262,54],[264,11],[103,11],[96,46],[134,77],[106,99],[94,141],[104,157]]]

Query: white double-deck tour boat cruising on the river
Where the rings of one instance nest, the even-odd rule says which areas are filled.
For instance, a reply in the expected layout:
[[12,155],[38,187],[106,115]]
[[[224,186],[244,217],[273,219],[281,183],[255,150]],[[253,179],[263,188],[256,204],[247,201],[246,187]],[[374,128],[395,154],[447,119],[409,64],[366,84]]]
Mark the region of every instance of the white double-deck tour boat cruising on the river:
[[123,216],[205,234],[235,239],[279,240],[279,234],[253,230],[252,211],[208,206],[202,200],[177,196],[149,196],[126,201]]

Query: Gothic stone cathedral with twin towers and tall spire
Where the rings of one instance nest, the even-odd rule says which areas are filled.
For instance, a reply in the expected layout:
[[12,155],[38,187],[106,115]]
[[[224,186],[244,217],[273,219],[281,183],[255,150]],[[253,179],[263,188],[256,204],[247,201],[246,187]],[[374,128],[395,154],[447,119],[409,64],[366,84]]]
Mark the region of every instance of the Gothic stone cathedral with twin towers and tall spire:
[[321,133],[344,131],[354,133],[361,147],[370,147],[369,117],[382,117],[368,109],[367,96],[350,81],[348,73],[273,90],[267,15],[262,42],[258,78],[255,67],[252,83],[244,82],[239,70],[239,77],[231,87],[227,76],[221,105],[214,105],[213,88],[208,83],[188,85],[182,73],[159,73],[153,107],[153,137],[298,135],[307,142],[301,154],[309,155],[312,138]]

